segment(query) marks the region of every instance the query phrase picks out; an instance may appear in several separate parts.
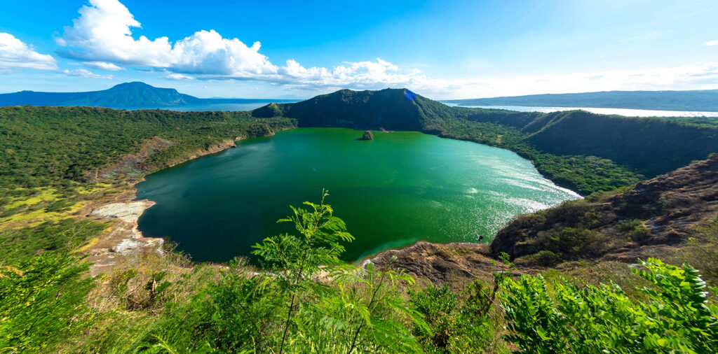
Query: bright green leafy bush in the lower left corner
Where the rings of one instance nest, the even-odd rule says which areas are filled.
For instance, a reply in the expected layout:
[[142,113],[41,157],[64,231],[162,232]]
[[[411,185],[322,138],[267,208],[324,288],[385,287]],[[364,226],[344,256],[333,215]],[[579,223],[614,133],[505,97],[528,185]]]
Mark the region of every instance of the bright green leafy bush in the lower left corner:
[[87,269],[77,257],[57,252],[1,266],[0,353],[40,353],[87,327]]

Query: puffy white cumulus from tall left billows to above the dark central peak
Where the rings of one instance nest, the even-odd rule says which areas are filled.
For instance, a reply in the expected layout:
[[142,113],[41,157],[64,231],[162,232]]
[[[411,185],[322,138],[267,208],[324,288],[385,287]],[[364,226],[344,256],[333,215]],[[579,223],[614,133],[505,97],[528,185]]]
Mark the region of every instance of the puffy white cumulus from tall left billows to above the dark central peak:
[[65,33],[56,39],[68,48],[58,51],[62,57],[161,69],[171,72],[166,78],[173,80],[257,80],[312,87],[369,87],[425,80],[417,70],[401,73],[396,65],[381,59],[346,62],[331,69],[307,68],[294,60],[277,66],[259,52],[260,42],[248,46],[214,30],[201,30],[174,43],[167,37],[134,39],[131,29],[141,28],[141,24],[117,0],[90,0],[79,12],[73,26],[65,27]]

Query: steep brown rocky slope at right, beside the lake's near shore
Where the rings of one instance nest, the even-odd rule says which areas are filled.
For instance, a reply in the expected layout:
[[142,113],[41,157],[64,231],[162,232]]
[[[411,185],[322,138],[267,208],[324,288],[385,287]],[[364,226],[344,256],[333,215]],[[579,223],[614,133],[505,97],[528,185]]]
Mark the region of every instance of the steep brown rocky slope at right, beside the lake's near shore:
[[561,259],[581,259],[679,244],[696,224],[717,214],[714,155],[622,193],[519,216],[498,232],[491,253],[523,257],[549,251]]

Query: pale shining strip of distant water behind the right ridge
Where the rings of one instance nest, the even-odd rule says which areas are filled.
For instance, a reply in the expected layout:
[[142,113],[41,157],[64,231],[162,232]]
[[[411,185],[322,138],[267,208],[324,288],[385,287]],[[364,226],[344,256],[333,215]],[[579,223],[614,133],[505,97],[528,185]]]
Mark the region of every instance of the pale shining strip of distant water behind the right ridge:
[[625,115],[626,117],[718,117],[718,112],[695,112],[685,110],[632,110],[628,108],[595,108],[595,107],[527,107],[527,106],[465,106],[456,103],[445,103],[452,107],[490,108],[494,110],[517,110],[518,112],[551,113],[563,110],[585,110],[602,115]]

